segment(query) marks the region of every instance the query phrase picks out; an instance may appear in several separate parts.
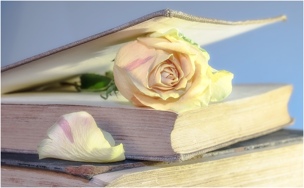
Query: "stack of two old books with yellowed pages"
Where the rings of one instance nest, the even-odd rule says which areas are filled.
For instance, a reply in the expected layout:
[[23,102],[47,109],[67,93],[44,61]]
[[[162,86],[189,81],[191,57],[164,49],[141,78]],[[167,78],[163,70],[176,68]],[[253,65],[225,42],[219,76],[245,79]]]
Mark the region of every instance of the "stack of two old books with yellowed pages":
[[[32,90],[104,73],[123,43],[150,32],[177,28],[205,45],[284,19],[228,22],[166,9],[2,67],[1,186],[303,186],[303,131],[281,130],[293,123],[291,85],[234,85],[223,101],[187,112],[135,107],[119,94],[104,101],[96,92]],[[48,128],[78,111],[123,143],[125,161],[38,159]]]

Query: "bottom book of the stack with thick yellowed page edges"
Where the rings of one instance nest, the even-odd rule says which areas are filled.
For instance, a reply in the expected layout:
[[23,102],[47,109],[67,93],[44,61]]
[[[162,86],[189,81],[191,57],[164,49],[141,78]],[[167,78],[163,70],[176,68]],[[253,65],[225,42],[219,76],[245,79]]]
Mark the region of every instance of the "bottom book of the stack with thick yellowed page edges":
[[[3,164],[3,163],[2,163]],[[90,179],[1,165],[1,187],[303,187],[303,131],[281,130],[180,163],[151,163]]]

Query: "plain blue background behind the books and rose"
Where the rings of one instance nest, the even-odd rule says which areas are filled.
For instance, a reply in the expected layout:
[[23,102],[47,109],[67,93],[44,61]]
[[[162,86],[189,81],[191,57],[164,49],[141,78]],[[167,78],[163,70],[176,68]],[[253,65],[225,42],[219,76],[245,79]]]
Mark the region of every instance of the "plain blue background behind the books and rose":
[[[174,2],[174,1],[172,1]],[[1,67],[170,9],[229,21],[285,14],[288,21],[203,48],[233,83],[291,83],[292,128],[303,129],[303,1],[1,1]],[[191,37],[191,36],[189,36]]]

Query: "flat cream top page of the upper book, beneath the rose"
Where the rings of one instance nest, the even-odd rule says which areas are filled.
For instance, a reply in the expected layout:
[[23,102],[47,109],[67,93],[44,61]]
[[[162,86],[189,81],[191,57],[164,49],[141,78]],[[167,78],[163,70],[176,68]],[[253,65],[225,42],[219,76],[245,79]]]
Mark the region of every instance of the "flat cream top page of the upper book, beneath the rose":
[[[234,101],[246,97],[261,95],[281,87],[291,87],[286,84],[238,84],[233,85],[231,94],[220,102],[210,102],[209,105]],[[102,93],[105,95],[105,93]],[[100,97],[100,92],[23,92],[1,95],[1,104],[41,104],[41,105],[84,105],[121,108],[136,107],[120,93],[110,96],[107,100]]]

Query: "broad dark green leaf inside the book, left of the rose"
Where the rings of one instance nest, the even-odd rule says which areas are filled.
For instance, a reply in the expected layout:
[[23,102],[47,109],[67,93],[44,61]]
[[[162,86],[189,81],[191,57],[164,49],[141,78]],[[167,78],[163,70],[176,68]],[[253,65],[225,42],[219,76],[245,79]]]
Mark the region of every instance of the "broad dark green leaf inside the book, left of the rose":
[[80,76],[81,90],[103,91],[107,89],[112,78],[98,74],[82,74]]

